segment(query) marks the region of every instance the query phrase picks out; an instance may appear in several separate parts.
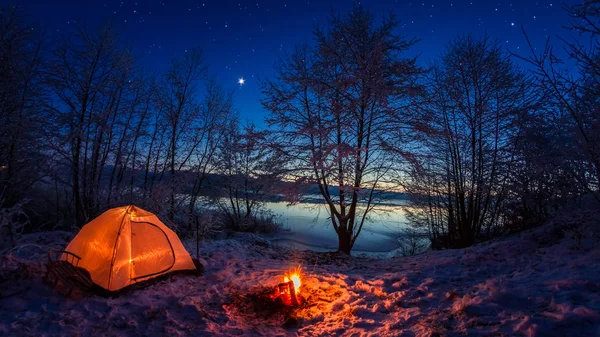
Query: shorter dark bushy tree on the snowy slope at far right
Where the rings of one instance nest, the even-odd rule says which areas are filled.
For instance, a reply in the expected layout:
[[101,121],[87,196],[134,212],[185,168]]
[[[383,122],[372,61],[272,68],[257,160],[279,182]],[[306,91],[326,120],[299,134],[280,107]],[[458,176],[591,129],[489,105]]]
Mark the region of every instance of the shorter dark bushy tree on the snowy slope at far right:
[[514,139],[510,200],[502,212],[507,231],[541,225],[566,202],[587,193],[577,181],[585,180],[589,166],[578,158],[570,117],[537,92],[539,109],[524,117],[521,134]]

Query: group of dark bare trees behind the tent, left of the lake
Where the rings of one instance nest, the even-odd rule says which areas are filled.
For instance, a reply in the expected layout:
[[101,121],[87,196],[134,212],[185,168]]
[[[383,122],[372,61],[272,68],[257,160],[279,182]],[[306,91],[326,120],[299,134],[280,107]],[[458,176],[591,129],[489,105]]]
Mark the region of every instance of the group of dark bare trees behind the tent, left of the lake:
[[[212,80],[200,49],[151,76],[111,26],[47,43],[8,6],[0,53],[4,247],[23,231],[81,228],[124,204],[191,229],[206,178],[231,169],[232,158],[253,165],[220,170],[235,202],[262,176],[276,176],[258,146],[263,135],[240,125],[232,93]],[[220,208],[238,227],[255,217]]]

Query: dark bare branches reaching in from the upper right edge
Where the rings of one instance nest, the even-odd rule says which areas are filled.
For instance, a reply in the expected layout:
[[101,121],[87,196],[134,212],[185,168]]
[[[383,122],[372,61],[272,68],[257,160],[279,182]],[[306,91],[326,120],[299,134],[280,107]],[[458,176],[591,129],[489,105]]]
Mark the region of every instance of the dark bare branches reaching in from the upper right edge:
[[529,43],[530,56],[520,58],[533,66],[535,84],[548,101],[569,117],[562,130],[571,135],[561,147],[565,150],[561,156],[568,160],[563,174],[568,174],[586,192],[593,192],[600,202],[600,2],[586,0],[565,6],[565,10],[573,18],[569,28],[590,38],[589,45],[561,40],[577,71],[563,68],[564,60],[549,40],[539,54]]

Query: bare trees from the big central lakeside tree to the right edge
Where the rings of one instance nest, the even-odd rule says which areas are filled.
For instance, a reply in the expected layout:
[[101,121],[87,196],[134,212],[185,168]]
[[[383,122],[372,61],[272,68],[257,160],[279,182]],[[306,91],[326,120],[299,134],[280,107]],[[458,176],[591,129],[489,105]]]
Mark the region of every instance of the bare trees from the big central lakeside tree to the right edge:
[[[393,17],[334,15],[263,87],[273,143],[318,185],[349,253],[386,190],[409,196],[405,253],[466,247],[598,200],[600,3],[565,8],[582,41],[511,55],[473,35],[427,68]],[[523,38],[526,39],[526,32]],[[573,64],[575,71],[565,64]]]

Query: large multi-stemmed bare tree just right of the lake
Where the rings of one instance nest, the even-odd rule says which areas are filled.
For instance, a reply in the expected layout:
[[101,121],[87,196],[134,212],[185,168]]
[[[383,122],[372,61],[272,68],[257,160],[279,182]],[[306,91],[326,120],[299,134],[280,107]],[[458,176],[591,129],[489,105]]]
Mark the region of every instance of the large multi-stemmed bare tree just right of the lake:
[[468,246],[500,223],[514,137],[535,101],[526,77],[497,43],[464,36],[431,71],[415,118],[419,150],[409,159],[414,223],[434,247]]

